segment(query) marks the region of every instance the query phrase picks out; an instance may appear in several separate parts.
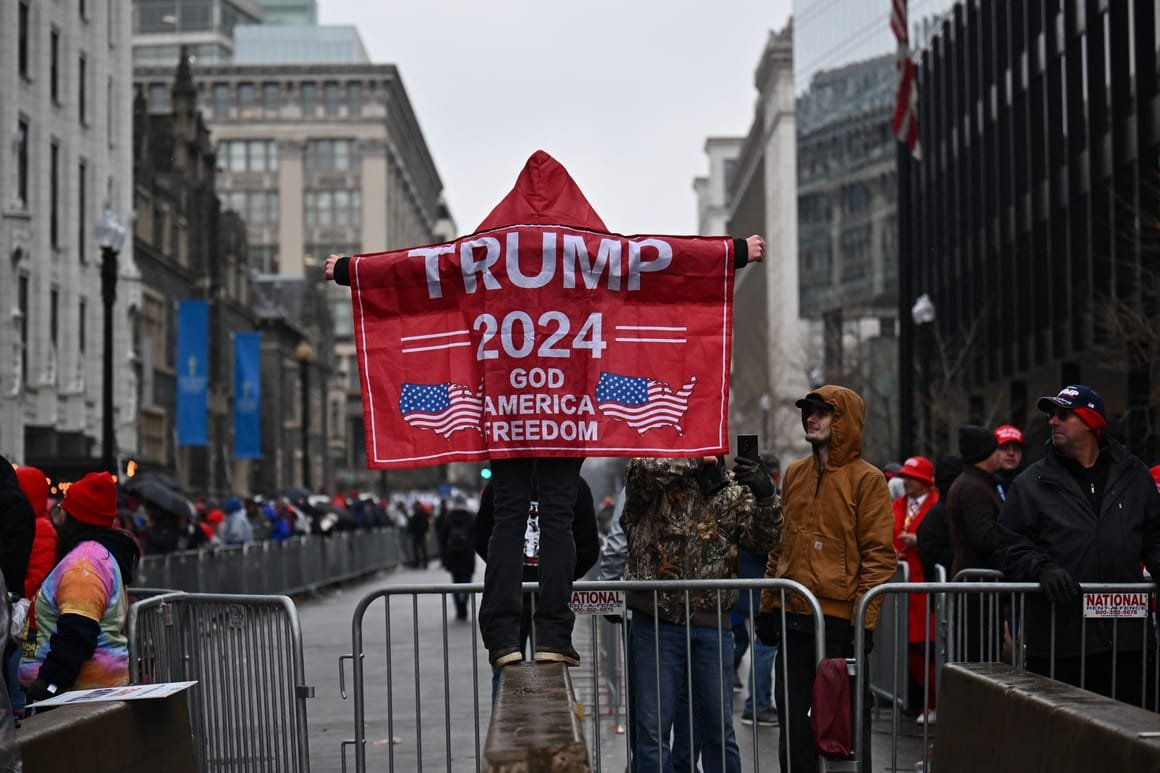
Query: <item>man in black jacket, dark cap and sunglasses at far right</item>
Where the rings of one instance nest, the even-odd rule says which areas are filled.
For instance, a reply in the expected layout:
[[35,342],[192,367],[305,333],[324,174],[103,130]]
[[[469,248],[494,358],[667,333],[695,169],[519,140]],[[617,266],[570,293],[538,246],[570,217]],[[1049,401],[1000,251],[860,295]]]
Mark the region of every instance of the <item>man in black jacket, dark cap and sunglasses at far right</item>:
[[1008,579],[1039,583],[1051,601],[1027,600],[1027,666],[1141,705],[1145,677],[1148,685],[1154,679],[1154,666],[1145,671],[1141,662],[1141,650],[1152,660],[1151,627],[1144,619],[1083,626],[1079,583],[1141,583],[1140,562],[1160,576],[1160,494],[1147,468],[1103,435],[1103,398],[1089,386],[1065,386],[1037,405],[1049,416],[1051,443],[1015,479],[999,514],[995,551]]

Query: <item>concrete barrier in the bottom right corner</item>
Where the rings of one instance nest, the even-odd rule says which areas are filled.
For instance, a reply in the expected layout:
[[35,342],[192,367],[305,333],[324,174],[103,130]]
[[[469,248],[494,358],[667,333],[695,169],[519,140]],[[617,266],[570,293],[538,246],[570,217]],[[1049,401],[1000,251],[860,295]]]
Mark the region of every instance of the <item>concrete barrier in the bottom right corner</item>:
[[1160,771],[1160,722],[1137,706],[1001,663],[949,663],[931,768]]

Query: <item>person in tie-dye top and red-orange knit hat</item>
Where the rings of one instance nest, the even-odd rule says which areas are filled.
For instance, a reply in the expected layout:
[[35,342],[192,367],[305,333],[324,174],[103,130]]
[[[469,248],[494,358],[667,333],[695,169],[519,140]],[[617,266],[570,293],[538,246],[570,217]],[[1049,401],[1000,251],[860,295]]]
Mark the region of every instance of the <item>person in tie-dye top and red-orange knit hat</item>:
[[55,513],[58,562],[36,597],[20,662],[20,684],[32,701],[129,684],[125,586],[140,547],[113,528],[116,514],[117,484],[108,472],[72,484]]

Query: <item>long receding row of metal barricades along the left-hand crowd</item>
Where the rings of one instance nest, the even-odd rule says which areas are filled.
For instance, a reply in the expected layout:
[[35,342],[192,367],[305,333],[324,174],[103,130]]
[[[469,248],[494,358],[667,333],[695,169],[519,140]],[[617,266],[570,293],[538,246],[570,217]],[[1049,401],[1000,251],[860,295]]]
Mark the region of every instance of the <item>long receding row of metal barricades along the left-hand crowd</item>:
[[375,528],[151,555],[136,581],[187,593],[300,593],[397,566],[399,540],[398,529]]

